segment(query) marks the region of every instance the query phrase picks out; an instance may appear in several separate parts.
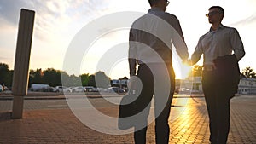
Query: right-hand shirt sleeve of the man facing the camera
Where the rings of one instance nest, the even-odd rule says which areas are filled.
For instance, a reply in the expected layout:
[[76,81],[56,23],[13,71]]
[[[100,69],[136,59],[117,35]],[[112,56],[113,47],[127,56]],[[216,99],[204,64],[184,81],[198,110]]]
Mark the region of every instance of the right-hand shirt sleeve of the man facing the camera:
[[236,59],[239,61],[245,55],[245,51],[239,32],[235,28],[232,30],[233,31],[230,33],[230,43],[236,55]]

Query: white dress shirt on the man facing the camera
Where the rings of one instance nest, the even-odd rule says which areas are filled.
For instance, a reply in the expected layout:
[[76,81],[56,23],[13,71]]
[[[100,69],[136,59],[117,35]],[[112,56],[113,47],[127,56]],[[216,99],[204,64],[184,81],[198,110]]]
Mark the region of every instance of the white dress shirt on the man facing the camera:
[[195,64],[203,54],[204,66],[207,66],[212,65],[218,56],[232,55],[233,52],[238,61],[245,55],[241,37],[235,28],[220,25],[216,31],[211,28],[200,37],[191,60]]

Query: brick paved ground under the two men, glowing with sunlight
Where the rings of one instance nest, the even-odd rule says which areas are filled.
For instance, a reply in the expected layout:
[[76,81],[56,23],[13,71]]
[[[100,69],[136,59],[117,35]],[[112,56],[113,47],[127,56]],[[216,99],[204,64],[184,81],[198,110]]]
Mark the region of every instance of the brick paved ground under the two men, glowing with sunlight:
[[[231,101],[230,144],[256,143],[256,96],[238,96]],[[170,143],[209,143],[207,109],[203,98],[189,98],[183,105],[174,99],[170,124]],[[100,111],[117,116],[118,107]],[[175,113],[182,110],[177,119]],[[148,126],[147,143],[154,143],[154,123]],[[133,134],[108,135],[91,130],[69,109],[26,110],[23,119],[10,119],[10,112],[0,109],[0,143],[85,143],[130,144]]]

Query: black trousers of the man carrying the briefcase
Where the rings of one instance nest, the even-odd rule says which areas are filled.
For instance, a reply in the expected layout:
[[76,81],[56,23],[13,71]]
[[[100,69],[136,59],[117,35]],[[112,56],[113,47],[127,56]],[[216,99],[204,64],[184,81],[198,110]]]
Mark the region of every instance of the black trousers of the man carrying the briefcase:
[[[151,100],[154,95],[156,143],[168,144],[170,133],[168,118],[170,116],[172,98],[175,89],[175,74],[173,72],[172,64],[140,65],[138,67],[137,77],[140,78],[143,84],[143,89],[138,97],[138,105],[142,106],[140,109],[144,109],[145,114],[143,114],[143,118],[139,119],[139,125],[135,126],[135,143],[146,144],[148,114]],[[156,86],[155,84],[158,85]],[[168,93],[162,93],[162,91],[166,89],[169,89]]]

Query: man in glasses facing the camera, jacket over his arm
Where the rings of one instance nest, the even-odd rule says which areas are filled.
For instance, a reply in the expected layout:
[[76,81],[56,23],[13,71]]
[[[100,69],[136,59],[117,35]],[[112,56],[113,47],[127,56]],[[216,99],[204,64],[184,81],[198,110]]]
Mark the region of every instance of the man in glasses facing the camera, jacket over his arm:
[[[227,142],[230,130],[230,97],[234,93],[228,93],[230,85],[223,79],[229,76],[221,76],[225,72],[224,66],[219,70],[216,61],[222,59],[224,62],[226,59],[224,57],[234,52],[228,59],[234,58],[236,65],[245,55],[245,51],[237,30],[221,24],[224,18],[223,8],[212,6],[207,17],[212,26],[209,32],[200,37],[191,56],[191,64],[194,65],[203,55],[202,86],[210,119],[210,141],[212,144],[224,144]],[[220,62],[219,64],[221,65]]]

